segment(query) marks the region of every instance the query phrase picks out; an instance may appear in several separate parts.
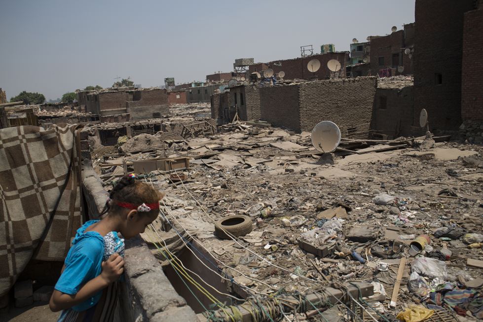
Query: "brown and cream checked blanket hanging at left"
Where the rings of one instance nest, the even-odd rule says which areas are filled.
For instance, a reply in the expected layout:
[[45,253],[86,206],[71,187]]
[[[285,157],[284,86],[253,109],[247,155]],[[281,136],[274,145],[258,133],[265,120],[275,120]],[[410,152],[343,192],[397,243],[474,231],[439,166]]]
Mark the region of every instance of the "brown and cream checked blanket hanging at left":
[[79,125],[0,130],[0,296],[30,259],[65,259],[81,215]]

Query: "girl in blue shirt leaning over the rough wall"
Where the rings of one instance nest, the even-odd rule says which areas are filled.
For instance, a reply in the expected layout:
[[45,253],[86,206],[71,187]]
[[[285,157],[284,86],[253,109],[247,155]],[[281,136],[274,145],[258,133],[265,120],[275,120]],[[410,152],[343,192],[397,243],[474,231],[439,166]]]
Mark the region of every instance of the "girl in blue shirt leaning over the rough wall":
[[113,310],[109,310],[108,317],[102,304],[106,303],[106,298],[115,298],[115,290],[112,291],[112,287],[104,293],[103,290],[120,278],[124,261],[118,253],[103,261],[104,236],[119,232],[124,239],[129,239],[144,232],[157,218],[159,200],[164,198],[163,193],[135,178],[135,175],[124,176],[112,189],[101,213],[106,216],[87,221],[77,230],[50,298],[53,312],[63,310],[58,322],[112,320]]

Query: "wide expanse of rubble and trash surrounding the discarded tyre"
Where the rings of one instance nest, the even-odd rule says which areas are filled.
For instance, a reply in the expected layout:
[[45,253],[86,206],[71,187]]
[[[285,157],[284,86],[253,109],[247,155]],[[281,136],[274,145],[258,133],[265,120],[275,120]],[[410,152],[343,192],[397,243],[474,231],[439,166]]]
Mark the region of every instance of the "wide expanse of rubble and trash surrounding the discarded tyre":
[[[421,150],[424,138],[342,140],[334,165],[319,165],[310,133],[243,122],[223,132],[96,161],[110,169],[101,176],[109,190],[122,160],[189,157],[190,168],[176,173],[181,181],[161,171],[139,179],[167,192],[162,210],[177,229],[195,236],[236,283],[261,294],[317,287],[299,276],[366,281],[376,293],[371,305],[392,321],[423,305],[460,321],[483,318],[481,146],[439,142]],[[148,138],[139,137],[129,141]],[[253,229],[237,242],[217,236],[214,222],[234,216],[248,216]],[[160,235],[165,225],[155,222]]]

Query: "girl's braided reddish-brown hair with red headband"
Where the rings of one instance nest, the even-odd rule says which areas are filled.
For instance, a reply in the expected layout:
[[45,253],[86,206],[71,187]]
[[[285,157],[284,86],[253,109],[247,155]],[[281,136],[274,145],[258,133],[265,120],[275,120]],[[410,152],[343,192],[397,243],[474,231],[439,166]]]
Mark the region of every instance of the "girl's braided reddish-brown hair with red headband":
[[[163,199],[165,193],[162,193],[144,182],[136,181],[135,178],[125,175],[114,186],[109,194],[109,199],[101,212],[101,216],[110,213],[119,213],[125,210],[119,205],[119,202],[126,202],[133,205],[154,204]],[[154,215],[159,209],[153,209],[148,213],[138,213],[146,215]]]

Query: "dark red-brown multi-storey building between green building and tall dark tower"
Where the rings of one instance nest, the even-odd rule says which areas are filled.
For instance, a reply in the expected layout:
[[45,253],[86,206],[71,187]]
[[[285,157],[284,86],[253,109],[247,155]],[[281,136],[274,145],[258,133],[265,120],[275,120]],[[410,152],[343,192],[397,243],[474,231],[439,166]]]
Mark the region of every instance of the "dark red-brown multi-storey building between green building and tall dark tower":
[[[405,27],[408,26],[405,30],[398,30],[387,36],[371,36],[371,75],[375,76],[379,73],[380,77],[384,77],[413,74],[412,54],[409,56],[404,53],[406,48],[412,47],[409,44],[414,37],[413,25],[405,25]],[[406,36],[408,36],[407,43]],[[404,67],[402,73],[398,72],[400,66]]]

